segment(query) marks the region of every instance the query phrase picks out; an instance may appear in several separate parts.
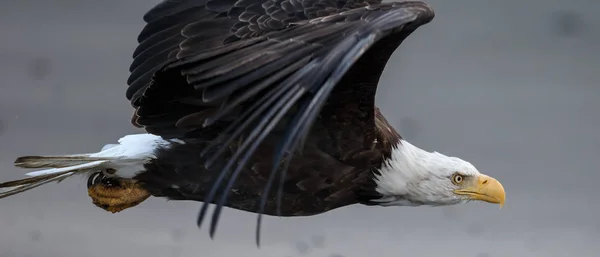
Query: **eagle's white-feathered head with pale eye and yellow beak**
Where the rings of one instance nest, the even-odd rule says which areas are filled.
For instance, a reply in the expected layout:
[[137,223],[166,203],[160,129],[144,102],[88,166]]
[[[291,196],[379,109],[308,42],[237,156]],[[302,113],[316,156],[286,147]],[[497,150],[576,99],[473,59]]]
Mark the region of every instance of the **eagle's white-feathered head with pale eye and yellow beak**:
[[375,199],[384,206],[452,205],[473,200],[504,205],[498,180],[481,174],[471,163],[427,152],[402,140],[375,174]]

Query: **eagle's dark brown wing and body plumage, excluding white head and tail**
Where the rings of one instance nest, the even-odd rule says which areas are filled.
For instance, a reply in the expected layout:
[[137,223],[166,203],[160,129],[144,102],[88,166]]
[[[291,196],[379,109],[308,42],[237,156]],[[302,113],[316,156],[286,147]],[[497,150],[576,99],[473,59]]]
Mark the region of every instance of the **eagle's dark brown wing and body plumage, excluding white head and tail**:
[[[127,97],[136,126],[186,144],[135,179],[155,196],[217,203],[213,222],[221,205],[299,216],[367,203],[400,140],[375,107],[379,77],[432,18],[414,1],[164,1],[144,16]],[[238,167],[234,184],[213,187]]]

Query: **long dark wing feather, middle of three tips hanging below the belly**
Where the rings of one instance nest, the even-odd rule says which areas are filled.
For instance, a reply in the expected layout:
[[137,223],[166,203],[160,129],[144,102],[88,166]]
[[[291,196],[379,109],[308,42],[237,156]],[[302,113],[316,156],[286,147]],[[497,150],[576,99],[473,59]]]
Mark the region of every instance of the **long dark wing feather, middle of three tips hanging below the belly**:
[[[301,97],[302,94],[304,94],[305,92],[306,91],[304,90],[304,88],[299,87],[299,86],[296,86],[292,90],[290,90],[286,96],[279,99],[279,102],[275,106],[272,107],[271,111],[269,111],[265,115],[266,117],[262,119],[262,121],[257,126],[257,128],[254,129],[252,131],[252,133],[250,134],[250,136],[245,140],[244,145],[248,145],[249,143],[253,143],[253,144],[250,146],[250,149],[248,149],[246,151],[246,154],[238,163],[238,167],[236,168],[236,170],[233,172],[233,174],[231,174],[229,182],[227,183],[227,186],[225,187],[225,190],[224,190],[223,194],[221,195],[221,198],[220,198],[219,202],[217,203],[217,206],[215,207],[215,210],[214,210],[213,216],[212,216],[211,227],[210,227],[210,237],[211,238],[214,237],[214,233],[217,229],[217,224],[219,221],[221,209],[223,208],[223,205],[225,204],[225,201],[227,200],[227,196],[229,196],[229,190],[235,183],[238,175],[244,168],[244,165],[246,164],[248,159],[253,155],[254,150],[262,143],[264,138],[271,132],[271,130],[273,130],[273,128],[275,128],[277,123],[281,120],[281,117],[283,117],[283,115],[287,113],[287,111],[294,105],[294,103],[296,103],[296,100],[299,97]],[[273,115],[275,115],[275,117],[271,118]],[[265,125],[266,125],[266,128],[263,129],[263,127],[265,127]],[[258,132],[261,132],[261,133],[259,135],[257,135]],[[243,148],[245,148],[245,147],[243,147]],[[237,150],[236,155],[238,153],[241,153],[242,151],[243,151],[243,149],[242,149],[242,147],[240,147],[240,149]],[[229,161],[229,163],[233,163],[233,161]]]

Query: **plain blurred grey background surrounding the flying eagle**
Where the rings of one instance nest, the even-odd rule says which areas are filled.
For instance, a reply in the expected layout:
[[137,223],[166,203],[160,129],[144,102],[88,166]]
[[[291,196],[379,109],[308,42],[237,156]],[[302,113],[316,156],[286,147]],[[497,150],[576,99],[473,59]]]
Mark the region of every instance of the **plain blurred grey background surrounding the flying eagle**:
[[[0,180],[20,155],[92,152],[134,129],[126,78],[157,0],[4,0]],[[379,106],[413,144],[470,160],[507,204],[352,206],[309,218],[227,209],[217,237],[194,202],[109,214],[85,180],[0,200],[0,257],[600,256],[600,2],[430,0],[396,51]]]

